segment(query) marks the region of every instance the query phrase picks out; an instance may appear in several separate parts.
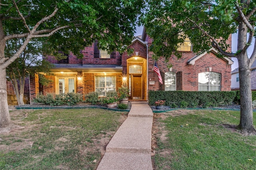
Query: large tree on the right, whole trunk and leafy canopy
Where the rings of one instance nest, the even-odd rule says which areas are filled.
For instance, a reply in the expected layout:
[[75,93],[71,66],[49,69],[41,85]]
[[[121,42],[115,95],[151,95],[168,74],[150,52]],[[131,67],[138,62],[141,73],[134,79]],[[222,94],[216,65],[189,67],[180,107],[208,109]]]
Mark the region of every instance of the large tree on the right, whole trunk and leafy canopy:
[[[168,61],[172,54],[181,57],[177,48],[186,38],[196,53],[214,47],[220,56],[238,59],[241,109],[237,128],[254,135],[250,67],[256,58],[256,43],[250,58],[247,49],[255,36],[255,11],[255,1],[250,0],[149,0],[144,18],[146,30],[154,39],[150,49],[156,59],[162,56]],[[227,51],[226,43],[232,33],[238,33],[234,53]]]

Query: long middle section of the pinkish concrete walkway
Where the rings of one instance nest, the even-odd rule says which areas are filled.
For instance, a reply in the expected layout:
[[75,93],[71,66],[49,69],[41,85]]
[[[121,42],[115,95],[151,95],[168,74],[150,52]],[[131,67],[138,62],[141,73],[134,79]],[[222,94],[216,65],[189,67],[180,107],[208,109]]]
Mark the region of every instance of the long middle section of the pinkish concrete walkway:
[[151,153],[152,118],[128,117],[116,131],[106,152]]

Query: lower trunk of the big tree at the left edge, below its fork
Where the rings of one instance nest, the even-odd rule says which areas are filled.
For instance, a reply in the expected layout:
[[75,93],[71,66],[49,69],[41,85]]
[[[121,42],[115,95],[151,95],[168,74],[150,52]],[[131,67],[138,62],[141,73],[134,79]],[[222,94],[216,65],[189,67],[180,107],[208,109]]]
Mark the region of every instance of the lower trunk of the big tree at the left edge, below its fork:
[[10,125],[10,121],[7,102],[6,69],[0,69],[0,128]]

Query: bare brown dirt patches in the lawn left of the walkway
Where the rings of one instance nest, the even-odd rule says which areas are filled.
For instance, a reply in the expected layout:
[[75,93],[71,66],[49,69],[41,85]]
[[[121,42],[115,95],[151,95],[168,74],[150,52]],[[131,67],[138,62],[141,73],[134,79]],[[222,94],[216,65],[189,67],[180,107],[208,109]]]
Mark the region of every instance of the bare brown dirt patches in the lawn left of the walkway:
[[[12,118],[12,123],[15,125],[21,125],[24,123],[22,119],[25,119],[30,112],[32,112],[32,109],[14,109],[10,111],[10,117]],[[42,114],[47,114],[47,113],[42,113]],[[127,114],[123,113],[120,116],[120,119],[118,120],[120,123],[123,123],[126,118]],[[38,117],[40,119],[40,117]],[[10,141],[6,142],[2,145],[0,145],[0,151],[3,153],[10,152],[10,151],[20,151],[23,149],[31,148],[34,144],[34,141],[36,141],[36,137],[32,138],[27,138],[25,139],[22,134],[30,133],[30,131],[39,128],[39,125],[33,124],[29,125],[30,123],[27,123],[27,125],[24,128],[14,128],[12,129],[9,133],[2,133],[1,135],[5,136],[5,141]],[[53,127],[50,127],[53,128]],[[54,127],[54,128],[59,128],[59,129],[76,129],[76,127],[66,127],[66,126],[59,126],[59,127]],[[93,143],[88,143],[88,147],[86,149],[82,149],[82,152],[95,152],[98,151],[100,154],[103,156],[106,152],[106,146],[110,142],[110,139],[114,135],[115,131],[111,132],[101,132],[99,135],[97,135],[94,139],[92,139]],[[39,134],[40,135],[40,134]],[[56,147],[54,148],[55,150],[64,150],[63,143],[69,143],[70,139],[65,138],[65,137],[60,137],[59,139],[56,140]],[[0,138],[0,141],[2,139]],[[58,144],[60,144],[58,146]],[[65,166],[58,166],[56,168],[60,169],[66,169]]]

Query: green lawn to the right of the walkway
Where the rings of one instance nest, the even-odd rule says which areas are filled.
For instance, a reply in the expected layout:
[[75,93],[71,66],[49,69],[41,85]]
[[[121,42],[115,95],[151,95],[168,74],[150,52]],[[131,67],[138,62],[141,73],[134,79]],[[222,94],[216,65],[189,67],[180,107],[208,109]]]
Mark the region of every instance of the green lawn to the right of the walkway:
[[[164,120],[154,156],[157,170],[255,170],[256,136],[243,136],[222,124],[238,125],[238,111],[194,111]],[[254,125],[256,116],[254,114]],[[162,140],[161,140],[162,139]]]

